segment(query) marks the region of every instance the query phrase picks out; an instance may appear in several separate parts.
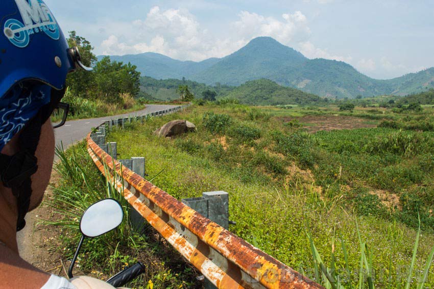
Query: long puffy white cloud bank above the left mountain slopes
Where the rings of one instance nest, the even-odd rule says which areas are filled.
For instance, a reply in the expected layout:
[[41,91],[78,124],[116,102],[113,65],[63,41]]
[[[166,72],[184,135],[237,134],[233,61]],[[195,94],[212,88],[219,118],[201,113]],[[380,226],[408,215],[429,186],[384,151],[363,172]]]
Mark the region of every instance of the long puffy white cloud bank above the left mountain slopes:
[[231,29],[224,38],[218,38],[202,28],[188,10],[161,10],[155,6],[143,20],[106,27],[110,35],[102,41],[100,50],[109,55],[157,52],[180,60],[197,61],[226,56],[258,36],[271,36],[294,46],[310,34],[307,17],[300,11],[284,13],[281,19],[248,11],[240,12],[238,17],[230,24]]

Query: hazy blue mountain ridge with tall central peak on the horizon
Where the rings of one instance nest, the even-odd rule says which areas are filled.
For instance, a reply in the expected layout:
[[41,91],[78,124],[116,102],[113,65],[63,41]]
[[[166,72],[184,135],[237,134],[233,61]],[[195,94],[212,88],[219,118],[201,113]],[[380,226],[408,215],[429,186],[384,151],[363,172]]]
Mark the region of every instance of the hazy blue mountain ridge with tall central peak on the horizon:
[[110,58],[131,62],[142,75],[156,79],[185,77],[208,85],[221,83],[237,86],[265,78],[280,85],[332,98],[407,95],[434,88],[434,68],[394,79],[378,80],[359,73],[342,61],[308,59],[271,37],[257,37],[226,57],[200,62],[180,61],[150,52]]

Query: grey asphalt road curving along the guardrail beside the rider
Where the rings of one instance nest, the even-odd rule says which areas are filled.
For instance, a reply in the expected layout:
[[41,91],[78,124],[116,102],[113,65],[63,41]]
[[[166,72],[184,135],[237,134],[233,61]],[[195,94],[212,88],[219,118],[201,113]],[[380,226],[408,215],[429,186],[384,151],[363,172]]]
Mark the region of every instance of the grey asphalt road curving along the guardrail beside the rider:
[[[94,118],[94,119],[83,119],[83,120],[73,120],[67,121],[65,125],[58,127],[55,129],[56,135],[56,145],[59,145],[61,142],[63,143],[63,147],[66,149],[69,145],[74,144],[82,139],[84,139],[92,127],[97,127],[105,121],[109,121],[110,119],[121,118],[121,117],[129,117],[129,116],[140,116],[144,114],[155,113],[163,109],[169,109],[172,107],[176,107],[177,105],[159,105],[159,104],[148,104],[146,108],[142,110],[138,110],[133,113],[110,116],[110,117],[102,117],[102,118]],[[56,161],[56,160],[55,160]],[[18,250],[20,256],[32,263],[34,261],[34,255],[32,253],[33,249],[33,228],[35,225],[35,220],[37,210],[34,210],[27,214],[26,216],[26,227],[17,233],[17,241],[18,241]]]

